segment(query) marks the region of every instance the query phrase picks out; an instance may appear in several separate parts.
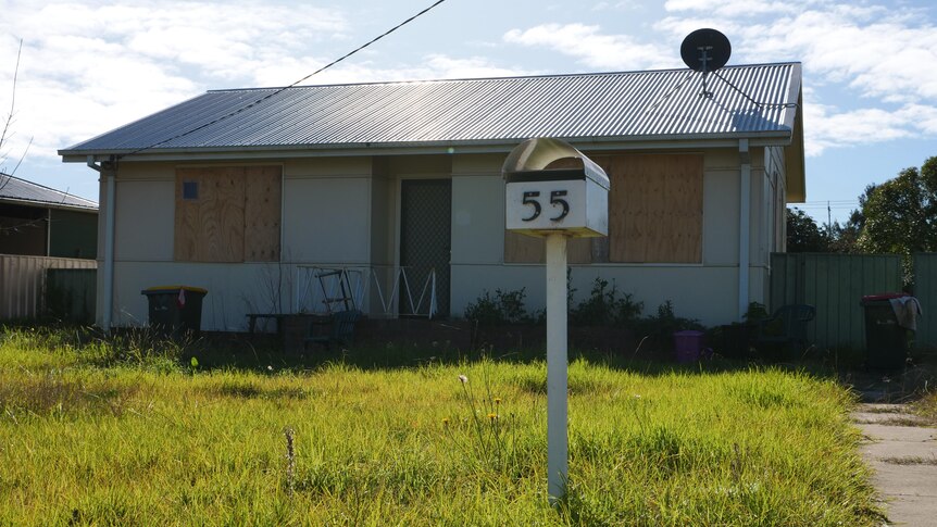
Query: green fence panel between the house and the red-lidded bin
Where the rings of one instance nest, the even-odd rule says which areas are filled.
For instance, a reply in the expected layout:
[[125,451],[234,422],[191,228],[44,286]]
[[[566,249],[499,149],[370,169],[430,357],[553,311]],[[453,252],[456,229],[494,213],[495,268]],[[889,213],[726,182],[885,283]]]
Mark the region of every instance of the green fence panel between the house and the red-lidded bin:
[[771,309],[816,308],[809,338],[822,347],[863,347],[864,294],[901,290],[901,256],[895,254],[775,253],[771,259]]

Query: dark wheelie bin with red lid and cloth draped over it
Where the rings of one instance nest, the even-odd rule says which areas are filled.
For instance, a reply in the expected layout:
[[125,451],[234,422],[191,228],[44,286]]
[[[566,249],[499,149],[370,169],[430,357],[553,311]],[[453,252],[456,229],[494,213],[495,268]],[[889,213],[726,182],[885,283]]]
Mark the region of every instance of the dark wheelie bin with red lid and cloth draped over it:
[[908,359],[908,329],[898,324],[891,299],[905,293],[869,294],[860,304],[865,311],[866,365],[873,369],[901,369]]

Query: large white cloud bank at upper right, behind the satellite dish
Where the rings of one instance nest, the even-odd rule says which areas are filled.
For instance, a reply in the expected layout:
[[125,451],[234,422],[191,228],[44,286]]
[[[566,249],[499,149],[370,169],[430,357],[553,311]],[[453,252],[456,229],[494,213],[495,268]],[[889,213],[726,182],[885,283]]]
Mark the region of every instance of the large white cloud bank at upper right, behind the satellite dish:
[[[660,21],[659,30],[679,37],[716,27],[732,40],[730,63],[803,63],[804,87],[820,88],[804,105],[808,155],[937,134],[937,27],[914,10],[823,0],[670,0],[665,9],[679,16]],[[826,87],[864,108],[838,109],[832,96],[823,99]]]

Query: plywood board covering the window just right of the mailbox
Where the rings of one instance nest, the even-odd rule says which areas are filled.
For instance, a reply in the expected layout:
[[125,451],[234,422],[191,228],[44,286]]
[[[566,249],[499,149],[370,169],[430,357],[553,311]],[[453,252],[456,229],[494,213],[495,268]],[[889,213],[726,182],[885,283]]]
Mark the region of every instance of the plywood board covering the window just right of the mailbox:
[[702,155],[614,155],[597,163],[612,185],[610,261],[702,261]]

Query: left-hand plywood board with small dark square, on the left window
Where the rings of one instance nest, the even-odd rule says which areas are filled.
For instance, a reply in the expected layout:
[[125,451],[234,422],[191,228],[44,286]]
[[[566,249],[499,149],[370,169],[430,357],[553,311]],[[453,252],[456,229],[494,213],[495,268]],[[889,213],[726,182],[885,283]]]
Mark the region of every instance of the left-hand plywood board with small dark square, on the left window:
[[[242,167],[176,171],[174,250],[177,261],[242,262],[245,233]],[[183,199],[183,184],[198,185],[197,199]]]

